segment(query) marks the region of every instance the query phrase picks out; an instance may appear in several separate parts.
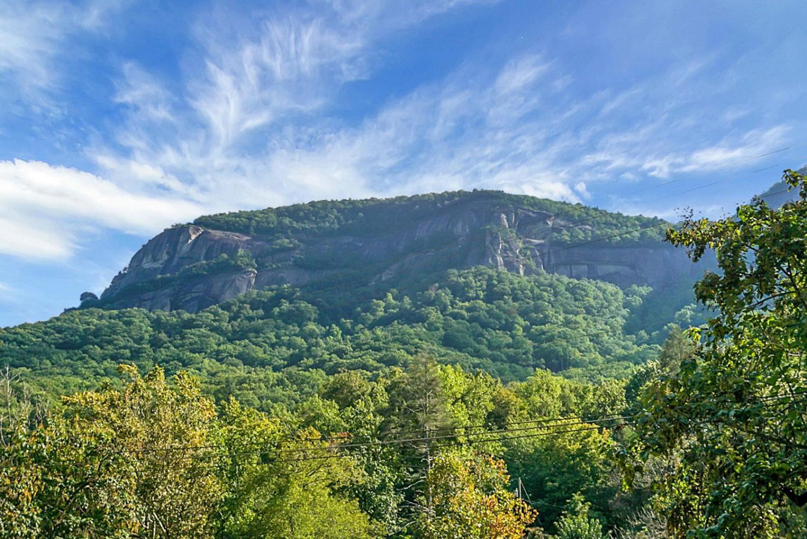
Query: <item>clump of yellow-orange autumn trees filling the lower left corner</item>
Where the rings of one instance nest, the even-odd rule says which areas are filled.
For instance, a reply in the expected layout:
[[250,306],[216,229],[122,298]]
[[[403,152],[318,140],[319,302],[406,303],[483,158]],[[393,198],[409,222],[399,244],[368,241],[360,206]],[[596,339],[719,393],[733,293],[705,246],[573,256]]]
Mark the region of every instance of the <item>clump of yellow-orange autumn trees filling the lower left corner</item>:
[[[16,429],[3,448],[2,522],[21,536],[198,537],[222,487],[199,466],[209,455],[215,417],[199,382],[186,374],[169,387],[155,367],[144,378],[63,399],[61,412],[30,432]],[[3,524],[6,525],[6,524]]]

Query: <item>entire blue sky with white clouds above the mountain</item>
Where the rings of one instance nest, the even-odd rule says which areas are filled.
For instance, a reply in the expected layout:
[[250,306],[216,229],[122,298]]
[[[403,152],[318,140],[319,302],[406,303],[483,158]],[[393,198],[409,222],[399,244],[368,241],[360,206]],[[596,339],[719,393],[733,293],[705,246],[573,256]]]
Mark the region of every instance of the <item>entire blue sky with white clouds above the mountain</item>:
[[0,325],[99,293],[149,237],[215,211],[490,188],[721,215],[807,162],[805,16],[0,0]]

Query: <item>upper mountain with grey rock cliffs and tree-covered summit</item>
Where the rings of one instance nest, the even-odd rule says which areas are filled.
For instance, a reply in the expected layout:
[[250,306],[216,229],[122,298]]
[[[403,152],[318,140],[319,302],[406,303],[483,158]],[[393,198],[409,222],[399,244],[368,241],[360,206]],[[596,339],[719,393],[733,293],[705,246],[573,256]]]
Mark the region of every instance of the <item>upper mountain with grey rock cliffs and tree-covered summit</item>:
[[149,240],[98,301],[82,297],[198,312],[267,286],[389,289],[477,265],[623,288],[694,281],[698,267],[663,243],[664,224],[491,190],[207,215]]

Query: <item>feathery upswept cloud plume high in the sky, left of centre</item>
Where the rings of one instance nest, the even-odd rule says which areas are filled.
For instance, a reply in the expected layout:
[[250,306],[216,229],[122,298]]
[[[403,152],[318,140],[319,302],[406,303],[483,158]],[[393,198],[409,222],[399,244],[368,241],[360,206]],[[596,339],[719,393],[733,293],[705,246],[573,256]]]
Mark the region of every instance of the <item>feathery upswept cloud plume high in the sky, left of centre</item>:
[[360,76],[362,41],[322,19],[266,20],[255,40],[236,47],[206,32],[205,76],[190,88],[190,103],[207,123],[213,148],[284,113],[319,107],[334,84]]

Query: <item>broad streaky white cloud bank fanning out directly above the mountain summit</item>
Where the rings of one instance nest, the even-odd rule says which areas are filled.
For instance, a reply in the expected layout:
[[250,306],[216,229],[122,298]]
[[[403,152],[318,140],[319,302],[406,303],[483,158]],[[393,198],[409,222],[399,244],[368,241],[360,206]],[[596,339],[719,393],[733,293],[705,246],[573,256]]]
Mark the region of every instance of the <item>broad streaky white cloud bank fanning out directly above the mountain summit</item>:
[[[265,26],[266,31],[269,28]],[[281,41],[273,38],[273,50],[281,47]],[[324,97],[289,91],[286,98],[270,98],[281,91],[272,86],[282,82],[282,73],[288,73],[294,84],[319,84],[321,72],[310,66],[333,69],[360,55],[345,48],[351,52],[313,61],[295,52],[311,47],[300,48],[295,40],[284,43],[284,52],[262,53],[260,69],[249,67],[253,63],[247,59],[257,57],[244,56],[249,47],[240,48],[240,61],[224,62],[243,68],[242,73],[230,70],[229,85],[213,84],[209,73],[190,83],[188,99],[207,119],[205,127],[180,122],[175,126],[178,140],[172,141],[170,136],[153,136],[157,127],[148,123],[148,115],[145,119],[134,115],[119,134],[131,155],[98,152],[98,164],[116,177],[159,183],[217,211],[301,199],[415,193],[436,186],[496,188],[579,202],[592,196],[592,182],[620,177],[635,182],[642,176],[667,178],[671,173],[716,169],[738,157],[769,151],[787,133],[787,127],[774,126],[724,137],[718,144],[707,139],[705,147],[699,147],[697,140],[681,144],[671,131],[686,127],[686,114],[675,114],[676,106],[688,104],[683,90],[674,90],[675,99],[667,100],[661,114],[658,108],[638,103],[647,100],[653,88],[663,87],[663,81],[569,101],[558,88],[571,83],[570,76],[541,54],[516,56],[498,68],[461,66],[442,81],[388,102],[356,127],[318,115],[297,116],[289,126],[278,118],[319,107]],[[288,61],[278,60],[269,69],[269,57],[296,58],[298,63],[284,69],[277,66]],[[680,71],[671,75],[675,81]],[[271,76],[249,75],[257,72]],[[335,86],[347,80],[326,78]],[[230,105],[220,105],[221,111],[219,106],[202,107],[199,85],[207,85],[210,95]],[[662,101],[664,96],[651,98]],[[261,107],[267,112],[248,113]],[[256,146],[254,137],[244,136],[250,130],[266,144]],[[157,132],[171,134],[165,129]],[[694,149],[686,149],[693,145]],[[134,172],[138,169],[142,173]],[[183,174],[189,182],[177,179]]]

